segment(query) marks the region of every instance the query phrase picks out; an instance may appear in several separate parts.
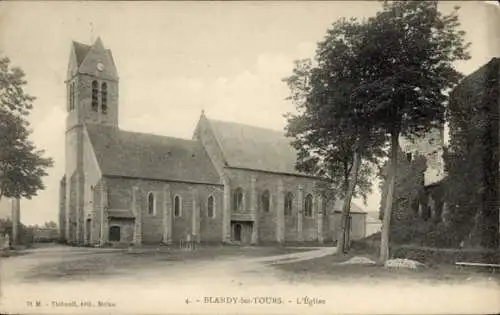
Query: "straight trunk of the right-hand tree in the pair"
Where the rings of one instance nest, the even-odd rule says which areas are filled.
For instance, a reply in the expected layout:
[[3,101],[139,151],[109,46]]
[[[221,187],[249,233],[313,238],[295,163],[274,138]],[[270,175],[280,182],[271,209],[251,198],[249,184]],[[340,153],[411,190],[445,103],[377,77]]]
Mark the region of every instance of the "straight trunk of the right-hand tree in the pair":
[[389,231],[391,224],[392,203],[394,198],[394,186],[396,184],[398,151],[399,151],[399,132],[391,132],[391,161],[389,169],[389,187],[385,200],[384,218],[382,221],[382,233],[380,239],[380,262],[384,263],[389,259]]

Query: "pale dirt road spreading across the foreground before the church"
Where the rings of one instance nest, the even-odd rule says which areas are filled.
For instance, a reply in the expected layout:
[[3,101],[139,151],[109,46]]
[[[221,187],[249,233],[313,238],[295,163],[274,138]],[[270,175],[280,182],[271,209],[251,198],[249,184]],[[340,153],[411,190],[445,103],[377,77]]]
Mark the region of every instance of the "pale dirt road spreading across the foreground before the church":
[[[273,268],[273,264],[309,260],[333,251],[319,248],[266,257],[229,256],[168,263],[145,259],[112,276],[22,281],[23,274],[42,262],[59,266],[60,262],[78,262],[96,255],[94,249],[40,250],[1,262],[0,310],[37,314],[400,314],[500,310],[500,290],[495,283],[431,286],[401,279],[377,285],[306,280],[290,283]],[[141,255],[146,257],[147,253]],[[116,252],[103,257],[125,256]]]

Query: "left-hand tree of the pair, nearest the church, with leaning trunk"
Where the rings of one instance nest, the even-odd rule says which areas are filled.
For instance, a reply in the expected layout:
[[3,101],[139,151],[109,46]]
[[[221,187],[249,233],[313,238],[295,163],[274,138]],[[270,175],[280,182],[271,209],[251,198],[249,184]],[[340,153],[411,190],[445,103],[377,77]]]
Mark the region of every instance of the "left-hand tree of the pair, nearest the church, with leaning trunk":
[[297,168],[329,180],[332,197],[344,199],[338,252],[344,252],[347,221],[353,196],[370,192],[370,178],[383,156],[385,135],[373,130],[366,108],[352,98],[363,75],[358,49],[364,26],[341,19],[318,43],[315,62],[297,61],[285,79],[298,114],[288,114],[287,133],[295,138]]

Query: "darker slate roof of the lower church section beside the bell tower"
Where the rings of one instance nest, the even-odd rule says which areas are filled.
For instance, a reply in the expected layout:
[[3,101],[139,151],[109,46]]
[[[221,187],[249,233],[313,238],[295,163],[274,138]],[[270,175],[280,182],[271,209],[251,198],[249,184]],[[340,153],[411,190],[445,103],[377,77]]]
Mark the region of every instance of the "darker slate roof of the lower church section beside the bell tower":
[[202,145],[152,134],[87,125],[103,175],[219,184],[220,177]]

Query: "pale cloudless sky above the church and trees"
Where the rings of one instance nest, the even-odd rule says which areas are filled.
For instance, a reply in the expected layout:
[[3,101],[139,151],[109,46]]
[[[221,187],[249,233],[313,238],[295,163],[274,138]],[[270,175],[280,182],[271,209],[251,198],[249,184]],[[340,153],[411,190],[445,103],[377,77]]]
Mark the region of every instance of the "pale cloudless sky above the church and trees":
[[[452,1],[441,9],[455,5],[472,42],[472,59],[457,68],[469,74],[500,56],[500,10]],[[46,190],[21,201],[22,222],[58,219],[71,41],[90,44],[100,36],[112,50],[122,129],[190,138],[205,110],[213,119],[281,130],[283,114],[295,111],[282,82],[293,61],[312,57],[340,17],[367,17],[379,8],[376,1],[0,3],[0,54],[26,72],[26,90],[37,97],[32,140],[55,160]],[[366,205],[357,203],[376,211],[379,199],[375,188]],[[3,202],[0,213],[5,209]]]

